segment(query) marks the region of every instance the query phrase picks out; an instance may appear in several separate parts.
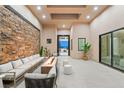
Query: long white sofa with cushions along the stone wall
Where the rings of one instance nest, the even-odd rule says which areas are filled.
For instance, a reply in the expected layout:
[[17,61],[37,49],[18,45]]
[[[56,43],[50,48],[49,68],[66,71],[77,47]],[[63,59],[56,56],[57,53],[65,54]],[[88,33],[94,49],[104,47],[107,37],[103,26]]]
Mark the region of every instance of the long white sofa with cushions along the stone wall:
[[39,64],[43,62],[44,57],[39,54],[11,61],[0,65],[1,75],[5,75],[3,80],[13,80],[14,85],[17,80],[24,76],[25,73],[33,71]]

